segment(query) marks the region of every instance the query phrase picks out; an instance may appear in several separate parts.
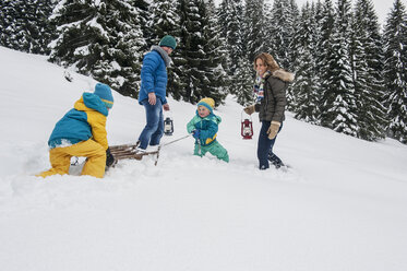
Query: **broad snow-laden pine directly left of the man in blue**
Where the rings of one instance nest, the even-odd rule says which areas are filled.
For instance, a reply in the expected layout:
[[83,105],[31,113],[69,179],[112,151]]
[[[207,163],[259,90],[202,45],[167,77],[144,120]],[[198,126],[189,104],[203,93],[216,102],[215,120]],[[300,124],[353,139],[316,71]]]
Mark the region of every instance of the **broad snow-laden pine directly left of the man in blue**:
[[135,97],[144,46],[137,19],[131,0],[62,0],[52,16],[59,36],[50,44],[50,61]]

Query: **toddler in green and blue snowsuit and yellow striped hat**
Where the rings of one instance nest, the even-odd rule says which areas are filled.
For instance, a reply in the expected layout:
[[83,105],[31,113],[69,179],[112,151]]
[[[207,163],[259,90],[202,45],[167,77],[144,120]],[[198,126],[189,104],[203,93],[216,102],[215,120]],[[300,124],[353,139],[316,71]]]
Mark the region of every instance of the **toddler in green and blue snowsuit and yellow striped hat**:
[[188,122],[187,130],[195,138],[195,149],[193,154],[204,156],[206,152],[215,155],[219,160],[229,162],[229,155],[225,148],[216,140],[218,125],[222,119],[214,115],[213,98],[203,98],[197,103],[195,116]]

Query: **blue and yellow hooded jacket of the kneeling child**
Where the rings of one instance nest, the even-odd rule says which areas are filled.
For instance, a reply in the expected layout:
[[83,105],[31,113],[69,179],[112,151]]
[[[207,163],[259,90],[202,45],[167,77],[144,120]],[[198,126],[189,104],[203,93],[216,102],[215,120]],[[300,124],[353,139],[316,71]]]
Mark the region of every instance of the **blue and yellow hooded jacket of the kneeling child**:
[[108,113],[99,96],[84,93],[76,101],[74,108],[57,122],[48,140],[49,148],[76,144],[92,138],[106,150],[108,148],[106,132]]

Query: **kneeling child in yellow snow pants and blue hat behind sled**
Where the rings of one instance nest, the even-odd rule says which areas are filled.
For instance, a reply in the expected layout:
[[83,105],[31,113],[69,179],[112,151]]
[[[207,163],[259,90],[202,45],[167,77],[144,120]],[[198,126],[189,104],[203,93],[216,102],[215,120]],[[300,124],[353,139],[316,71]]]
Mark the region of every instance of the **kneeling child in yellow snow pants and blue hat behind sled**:
[[52,168],[37,176],[68,174],[72,156],[86,157],[82,175],[103,178],[110,157],[106,118],[113,105],[110,87],[97,83],[94,93],[84,93],[74,108],[60,119],[48,140]]

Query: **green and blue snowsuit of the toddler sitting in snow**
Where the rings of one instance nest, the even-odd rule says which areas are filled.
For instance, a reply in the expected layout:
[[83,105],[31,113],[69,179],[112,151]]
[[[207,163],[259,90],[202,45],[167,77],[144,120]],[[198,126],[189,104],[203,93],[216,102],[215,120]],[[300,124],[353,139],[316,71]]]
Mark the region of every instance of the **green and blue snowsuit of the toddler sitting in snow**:
[[200,138],[195,139],[194,155],[204,156],[206,152],[215,155],[219,160],[229,162],[229,155],[225,148],[216,140],[218,125],[222,119],[211,113],[207,117],[201,118],[196,115],[188,122],[187,130],[191,133],[193,130],[200,130]]

